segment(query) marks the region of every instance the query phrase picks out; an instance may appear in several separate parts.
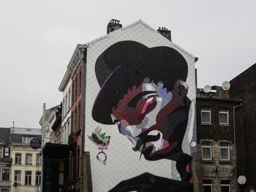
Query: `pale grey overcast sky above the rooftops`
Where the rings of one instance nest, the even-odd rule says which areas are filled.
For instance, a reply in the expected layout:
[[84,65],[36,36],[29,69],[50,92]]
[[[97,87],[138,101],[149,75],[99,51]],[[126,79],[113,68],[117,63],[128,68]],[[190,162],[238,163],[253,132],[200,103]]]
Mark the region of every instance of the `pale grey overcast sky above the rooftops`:
[[42,103],[60,104],[59,84],[78,43],[142,19],[172,31],[199,58],[198,86],[222,85],[256,62],[256,1],[0,0],[0,126],[39,128]]

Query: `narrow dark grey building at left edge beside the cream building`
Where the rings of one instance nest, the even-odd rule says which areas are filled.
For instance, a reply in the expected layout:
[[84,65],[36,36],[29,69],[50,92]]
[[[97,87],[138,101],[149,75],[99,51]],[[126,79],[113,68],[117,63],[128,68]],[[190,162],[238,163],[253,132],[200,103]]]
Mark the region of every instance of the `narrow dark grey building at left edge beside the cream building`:
[[0,191],[11,191],[10,128],[0,127]]

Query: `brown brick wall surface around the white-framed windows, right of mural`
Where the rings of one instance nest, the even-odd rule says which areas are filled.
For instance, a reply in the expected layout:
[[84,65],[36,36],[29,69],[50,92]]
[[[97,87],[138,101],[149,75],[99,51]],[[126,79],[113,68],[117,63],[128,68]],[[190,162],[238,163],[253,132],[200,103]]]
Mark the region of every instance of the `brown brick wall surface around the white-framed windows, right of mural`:
[[[222,91],[220,91],[222,92]],[[228,98],[228,93],[197,94],[197,155],[201,180],[211,180],[213,191],[221,191],[221,180],[230,180],[231,191],[236,191],[236,154],[234,140],[233,107],[241,100]],[[201,109],[211,108],[211,123],[201,123]],[[219,124],[219,110],[228,110],[228,124]],[[238,137],[237,137],[238,138]],[[202,159],[202,142],[211,142],[211,160]],[[230,160],[220,160],[220,143],[229,144]]]

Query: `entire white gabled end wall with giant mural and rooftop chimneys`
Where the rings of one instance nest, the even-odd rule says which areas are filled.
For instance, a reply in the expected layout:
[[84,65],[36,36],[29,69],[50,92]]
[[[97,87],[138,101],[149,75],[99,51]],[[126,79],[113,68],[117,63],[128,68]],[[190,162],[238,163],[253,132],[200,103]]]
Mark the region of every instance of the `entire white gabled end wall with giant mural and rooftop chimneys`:
[[197,58],[167,28],[108,26],[86,44],[82,190],[192,191]]

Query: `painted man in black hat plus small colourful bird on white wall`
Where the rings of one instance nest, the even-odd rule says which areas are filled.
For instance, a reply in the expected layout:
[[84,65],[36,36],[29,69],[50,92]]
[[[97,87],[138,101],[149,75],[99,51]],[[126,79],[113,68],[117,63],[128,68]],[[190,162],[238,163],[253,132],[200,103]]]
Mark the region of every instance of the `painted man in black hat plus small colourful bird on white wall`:
[[[122,41],[99,55],[95,74],[100,90],[92,118],[104,125],[116,124],[140,158],[176,162],[181,178],[172,180],[145,172],[121,181],[110,191],[193,191],[192,156],[184,153],[184,147],[189,148],[192,142],[190,139],[184,146],[184,137],[194,126],[189,120],[194,104],[187,97],[185,58],[171,47],[148,48],[139,42]],[[90,139],[106,147],[97,132]],[[103,148],[100,150],[104,154]]]

